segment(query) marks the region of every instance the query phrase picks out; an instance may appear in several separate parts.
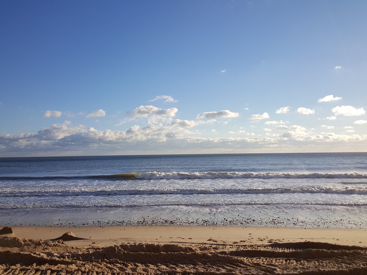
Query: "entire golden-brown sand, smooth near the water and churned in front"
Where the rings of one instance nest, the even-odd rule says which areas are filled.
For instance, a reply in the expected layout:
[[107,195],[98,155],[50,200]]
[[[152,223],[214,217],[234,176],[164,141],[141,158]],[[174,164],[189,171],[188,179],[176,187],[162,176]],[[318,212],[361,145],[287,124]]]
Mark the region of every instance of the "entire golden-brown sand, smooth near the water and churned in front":
[[12,231],[0,235],[0,274],[367,274],[361,229],[15,226]]

